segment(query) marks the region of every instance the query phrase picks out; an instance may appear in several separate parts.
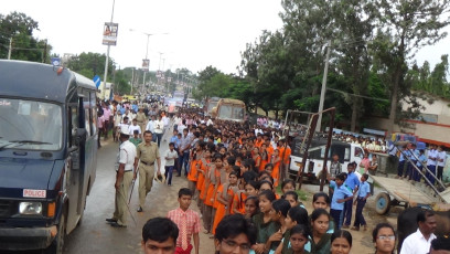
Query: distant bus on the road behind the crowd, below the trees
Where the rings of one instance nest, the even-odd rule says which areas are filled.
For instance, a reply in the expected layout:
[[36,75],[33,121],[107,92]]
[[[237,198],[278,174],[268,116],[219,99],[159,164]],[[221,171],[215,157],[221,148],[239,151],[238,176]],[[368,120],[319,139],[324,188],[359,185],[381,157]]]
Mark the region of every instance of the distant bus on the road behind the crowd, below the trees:
[[212,110],[213,118],[221,120],[245,120],[245,103],[234,98],[221,98]]

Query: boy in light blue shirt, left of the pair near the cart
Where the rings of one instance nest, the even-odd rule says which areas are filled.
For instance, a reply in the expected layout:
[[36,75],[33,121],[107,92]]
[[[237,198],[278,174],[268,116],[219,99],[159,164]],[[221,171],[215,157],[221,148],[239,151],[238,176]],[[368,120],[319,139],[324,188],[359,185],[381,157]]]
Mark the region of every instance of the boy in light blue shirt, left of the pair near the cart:
[[340,230],[342,226],[343,210],[346,201],[353,200],[353,193],[344,187],[345,174],[340,173],[334,180],[336,187],[334,188],[333,199],[331,200],[330,215],[333,218],[335,230]]

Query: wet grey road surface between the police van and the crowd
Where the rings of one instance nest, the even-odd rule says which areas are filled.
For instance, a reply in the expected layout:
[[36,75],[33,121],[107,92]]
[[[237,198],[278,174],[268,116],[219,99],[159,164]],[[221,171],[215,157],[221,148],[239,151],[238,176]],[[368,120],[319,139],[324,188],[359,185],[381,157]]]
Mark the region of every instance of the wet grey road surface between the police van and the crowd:
[[[109,142],[108,142],[109,141]],[[97,178],[87,199],[86,210],[82,224],[66,239],[65,251],[67,254],[86,253],[142,253],[141,233],[147,220],[154,216],[165,216],[169,210],[178,207],[178,191],[188,187],[184,177],[174,177],[172,186],[153,182],[151,192],[147,195],[143,212],[138,213],[138,188],[135,186],[130,203],[131,216],[128,216],[128,227],[116,229],[105,222],[114,212],[115,170],[114,163],[117,156],[118,144],[109,139],[103,142],[98,150]],[[168,149],[168,142],[161,142],[160,152]],[[191,205],[196,210],[194,203]],[[213,240],[200,233],[200,253],[213,253]]]

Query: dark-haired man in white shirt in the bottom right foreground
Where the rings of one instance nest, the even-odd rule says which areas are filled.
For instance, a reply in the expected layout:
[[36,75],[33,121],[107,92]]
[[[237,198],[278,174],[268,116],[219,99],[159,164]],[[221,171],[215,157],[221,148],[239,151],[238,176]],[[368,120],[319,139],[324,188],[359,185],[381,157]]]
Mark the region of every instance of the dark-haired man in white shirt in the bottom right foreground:
[[437,222],[432,211],[424,210],[417,214],[417,231],[405,239],[400,254],[426,254],[430,251],[431,241],[436,239],[433,234]]

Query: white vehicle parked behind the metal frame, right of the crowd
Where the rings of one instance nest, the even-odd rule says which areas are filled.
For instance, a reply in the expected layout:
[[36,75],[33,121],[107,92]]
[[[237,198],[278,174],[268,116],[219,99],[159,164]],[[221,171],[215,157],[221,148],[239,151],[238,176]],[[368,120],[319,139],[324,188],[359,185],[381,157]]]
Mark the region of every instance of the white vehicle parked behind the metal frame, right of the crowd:
[[[302,138],[298,137],[293,139],[292,144],[292,155],[290,156],[289,174],[297,177],[299,169],[302,166],[303,155],[300,150]],[[309,156],[306,162],[306,169],[303,171],[303,178],[306,180],[318,183],[319,173],[323,168],[323,159],[325,155],[326,139],[313,140],[309,147]],[[338,155],[339,161],[342,165],[342,172],[346,172],[347,165],[355,161],[360,165],[364,156],[364,149],[358,144],[343,142],[339,140],[332,140],[328,168],[330,169],[330,163],[332,156]]]

